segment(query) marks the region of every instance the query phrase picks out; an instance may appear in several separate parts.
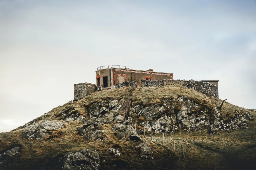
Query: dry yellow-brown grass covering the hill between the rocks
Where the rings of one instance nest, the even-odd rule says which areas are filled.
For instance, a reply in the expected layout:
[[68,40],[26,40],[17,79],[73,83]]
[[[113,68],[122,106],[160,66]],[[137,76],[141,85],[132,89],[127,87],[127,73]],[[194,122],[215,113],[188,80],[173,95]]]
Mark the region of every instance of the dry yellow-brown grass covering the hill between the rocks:
[[[121,88],[94,93],[73,104],[67,103],[54,108],[52,111],[44,114],[43,116],[45,117],[42,117],[40,121],[60,120],[60,113],[62,111],[73,112],[74,110],[88,118],[85,108],[90,103],[108,99],[120,100],[126,97],[126,90],[126,88]],[[220,99],[217,99],[217,101],[215,98],[209,99],[209,97],[201,93],[181,86],[137,88],[133,93],[132,99],[134,101],[133,105],[143,103],[144,106],[150,106],[167,98],[173,98],[177,101],[179,96],[187,96],[200,103],[200,107],[207,107],[209,109],[213,109],[221,103]],[[176,108],[179,109],[180,107],[179,102],[177,102]],[[247,109],[225,102],[221,109],[221,115],[227,116],[227,119],[229,119],[236,114],[235,110],[240,110],[241,113],[247,111]],[[71,125],[65,124],[65,128],[52,132],[52,138],[42,141],[22,138],[23,130],[0,133],[0,150],[7,149],[12,145],[21,146],[21,154],[13,157],[14,163],[12,168],[14,167],[14,169],[17,169],[17,167],[19,167],[18,169],[29,169],[31,165],[33,168],[39,168],[56,154],[65,154],[69,151],[76,152],[86,148],[96,149],[100,152],[101,165],[105,169],[137,169],[138,167],[140,169],[170,169],[175,163],[174,160],[178,158],[178,154],[174,155],[172,149],[172,137],[174,137],[177,139],[177,151],[180,149],[180,144],[184,144],[186,159],[182,166],[185,169],[234,169],[234,167],[239,167],[240,165],[250,168],[255,165],[252,160],[256,159],[256,126],[255,121],[248,123],[249,128],[246,130],[231,131],[230,133],[223,131],[218,132],[216,135],[208,135],[206,131],[187,133],[179,130],[165,135],[165,146],[161,145],[161,134],[154,135],[153,138],[156,139],[154,142],[143,138],[143,140],[148,140],[150,147],[153,149],[156,155],[154,160],[140,159],[139,150],[134,149],[138,143],[117,139],[114,132],[111,131],[112,124],[105,124],[103,126],[107,136],[105,141],[85,142],[82,136],[77,135],[76,129],[82,125],[78,122],[73,122]],[[122,155],[119,158],[110,156],[109,148],[118,149]],[[105,162],[102,160],[105,160]]]

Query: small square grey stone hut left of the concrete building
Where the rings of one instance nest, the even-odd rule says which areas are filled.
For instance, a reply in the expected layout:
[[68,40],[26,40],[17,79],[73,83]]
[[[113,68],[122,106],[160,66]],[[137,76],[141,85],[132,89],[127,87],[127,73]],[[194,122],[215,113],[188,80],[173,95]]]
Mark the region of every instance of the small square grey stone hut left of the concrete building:
[[91,83],[74,84],[74,100],[80,100],[95,92],[96,85]]

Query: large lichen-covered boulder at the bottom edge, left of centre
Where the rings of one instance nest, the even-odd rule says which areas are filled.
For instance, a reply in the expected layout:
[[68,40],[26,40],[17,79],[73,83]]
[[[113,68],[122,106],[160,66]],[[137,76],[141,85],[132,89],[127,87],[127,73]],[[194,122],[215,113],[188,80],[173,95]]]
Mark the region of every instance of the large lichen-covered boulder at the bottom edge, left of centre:
[[69,152],[52,158],[49,170],[99,170],[100,155],[96,150],[83,149],[79,152]]

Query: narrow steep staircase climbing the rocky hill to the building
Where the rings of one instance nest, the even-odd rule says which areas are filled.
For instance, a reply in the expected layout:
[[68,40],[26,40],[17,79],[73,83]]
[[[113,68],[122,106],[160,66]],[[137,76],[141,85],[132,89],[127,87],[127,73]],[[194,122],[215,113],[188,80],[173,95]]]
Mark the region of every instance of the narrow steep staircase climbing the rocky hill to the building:
[[125,102],[123,103],[123,107],[121,107],[120,114],[119,114],[123,117],[124,120],[128,117],[127,112],[131,105],[132,92],[136,89],[136,87],[137,87],[137,84],[135,84],[134,87],[129,87],[127,89],[128,96],[126,97]]

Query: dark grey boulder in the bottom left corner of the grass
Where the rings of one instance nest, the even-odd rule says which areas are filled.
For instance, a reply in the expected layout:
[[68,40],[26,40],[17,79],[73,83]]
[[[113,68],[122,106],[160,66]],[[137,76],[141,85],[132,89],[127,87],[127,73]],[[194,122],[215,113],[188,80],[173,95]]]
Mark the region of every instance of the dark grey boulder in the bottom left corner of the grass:
[[6,169],[12,163],[11,157],[20,154],[20,147],[13,147],[0,154],[0,170]]

